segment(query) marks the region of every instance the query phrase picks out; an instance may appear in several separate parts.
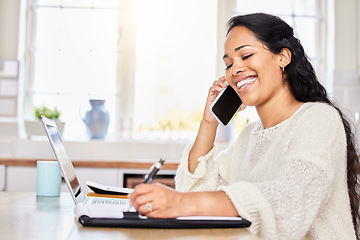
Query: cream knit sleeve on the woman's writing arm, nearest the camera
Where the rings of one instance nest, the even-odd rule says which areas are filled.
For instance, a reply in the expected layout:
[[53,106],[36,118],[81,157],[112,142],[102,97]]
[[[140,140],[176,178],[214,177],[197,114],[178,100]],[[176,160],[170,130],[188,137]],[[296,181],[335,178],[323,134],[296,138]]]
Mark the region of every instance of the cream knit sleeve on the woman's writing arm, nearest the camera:
[[273,179],[219,188],[252,222],[251,232],[271,239],[302,239],[329,200],[335,172],[346,174],[345,133],[334,109],[308,111],[290,128]]

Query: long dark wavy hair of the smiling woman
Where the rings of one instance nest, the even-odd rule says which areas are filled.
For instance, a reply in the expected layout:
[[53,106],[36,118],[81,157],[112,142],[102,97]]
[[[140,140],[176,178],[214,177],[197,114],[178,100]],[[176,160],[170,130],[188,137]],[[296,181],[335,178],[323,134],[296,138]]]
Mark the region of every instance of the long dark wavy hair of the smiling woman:
[[284,81],[288,81],[290,90],[300,102],[323,102],[334,107],[344,124],[347,143],[347,186],[350,197],[351,214],[359,240],[359,184],[357,181],[357,168],[359,156],[356,152],[354,133],[351,131],[350,122],[341,110],[329,99],[325,88],[318,81],[300,41],[294,36],[293,29],[281,18],[265,13],[240,15],[231,18],[228,22],[228,32],[237,26],[243,26],[253,34],[274,54],[283,48],[288,48],[291,53],[291,62],[285,67]]

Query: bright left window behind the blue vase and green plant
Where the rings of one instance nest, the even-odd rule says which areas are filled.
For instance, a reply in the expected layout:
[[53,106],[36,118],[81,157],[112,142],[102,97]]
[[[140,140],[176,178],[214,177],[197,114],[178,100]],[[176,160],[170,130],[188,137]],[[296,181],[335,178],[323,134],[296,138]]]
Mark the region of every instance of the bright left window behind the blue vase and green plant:
[[89,98],[106,98],[107,109],[115,110],[121,6],[110,0],[38,0],[28,7],[27,115],[34,106],[57,106],[68,133],[81,135],[79,112]]

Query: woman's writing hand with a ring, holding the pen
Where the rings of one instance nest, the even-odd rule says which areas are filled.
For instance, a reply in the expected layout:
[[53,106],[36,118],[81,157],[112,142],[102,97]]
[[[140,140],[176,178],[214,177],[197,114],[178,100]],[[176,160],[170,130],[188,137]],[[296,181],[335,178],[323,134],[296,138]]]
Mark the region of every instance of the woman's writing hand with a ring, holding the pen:
[[130,204],[141,214],[153,218],[175,218],[186,215],[184,193],[162,184],[140,184],[129,194]]

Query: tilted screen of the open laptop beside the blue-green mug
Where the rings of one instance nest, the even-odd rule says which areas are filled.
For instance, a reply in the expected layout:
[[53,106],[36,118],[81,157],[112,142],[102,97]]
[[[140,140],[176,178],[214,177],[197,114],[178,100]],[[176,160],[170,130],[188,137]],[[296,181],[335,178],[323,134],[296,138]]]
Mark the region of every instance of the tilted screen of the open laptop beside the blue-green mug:
[[69,191],[75,203],[82,202],[85,196],[81,191],[79,181],[75,175],[74,166],[67,156],[56,124],[54,121],[45,117],[42,118],[42,121]]

